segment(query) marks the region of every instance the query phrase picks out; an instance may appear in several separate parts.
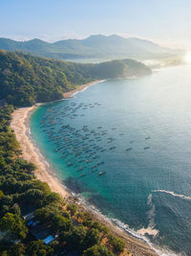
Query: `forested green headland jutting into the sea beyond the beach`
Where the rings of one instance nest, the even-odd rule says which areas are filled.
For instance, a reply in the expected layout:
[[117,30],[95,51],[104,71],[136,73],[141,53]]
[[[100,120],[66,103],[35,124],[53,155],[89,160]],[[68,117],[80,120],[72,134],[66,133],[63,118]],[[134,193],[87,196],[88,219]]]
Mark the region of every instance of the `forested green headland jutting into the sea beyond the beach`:
[[144,76],[151,69],[133,59],[81,64],[0,51],[0,100],[16,106],[63,98],[89,81]]

